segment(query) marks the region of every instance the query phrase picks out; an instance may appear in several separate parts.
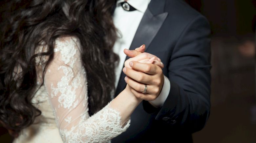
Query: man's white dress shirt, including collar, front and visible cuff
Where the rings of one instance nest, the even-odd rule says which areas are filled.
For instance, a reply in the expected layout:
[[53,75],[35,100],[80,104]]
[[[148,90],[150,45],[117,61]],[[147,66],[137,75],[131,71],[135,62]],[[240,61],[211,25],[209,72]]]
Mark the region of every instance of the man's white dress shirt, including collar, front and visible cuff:
[[[139,23],[144,15],[150,0],[128,0],[127,2],[137,10],[126,11],[120,6],[124,0],[117,1],[117,7],[114,12],[114,24],[118,29],[118,39],[114,45],[114,52],[119,55],[120,62],[117,66],[116,72],[116,87],[123,69],[126,55],[123,53],[124,49],[129,49],[135,33],[139,27]],[[139,47],[141,45],[138,45]],[[146,45],[147,46],[147,45]],[[136,47],[136,48],[137,48]],[[154,101],[149,101],[155,107],[160,107],[165,102],[170,91],[170,81],[164,76],[164,84],[158,98]]]

